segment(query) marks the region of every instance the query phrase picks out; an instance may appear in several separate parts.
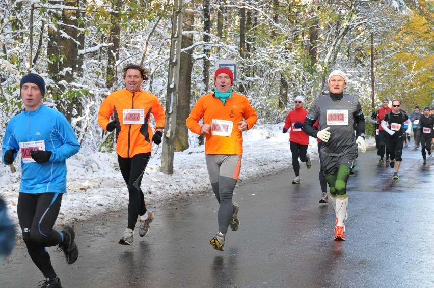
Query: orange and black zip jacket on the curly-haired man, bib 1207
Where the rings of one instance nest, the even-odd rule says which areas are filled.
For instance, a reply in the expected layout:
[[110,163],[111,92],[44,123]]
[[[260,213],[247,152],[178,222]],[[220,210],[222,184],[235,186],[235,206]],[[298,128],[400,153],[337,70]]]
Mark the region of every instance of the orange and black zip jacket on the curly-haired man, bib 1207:
[[116,152],[119,156],[131,158],[139,153],[151,152],[153,132],[149,126],[150,113],[154,116],[155,130],[162,132],[166,125],[165,112],[158,98],[149,92],[122,89],[108,95],[101,103],[98,123],[107,131],[113,114],[116,121]]

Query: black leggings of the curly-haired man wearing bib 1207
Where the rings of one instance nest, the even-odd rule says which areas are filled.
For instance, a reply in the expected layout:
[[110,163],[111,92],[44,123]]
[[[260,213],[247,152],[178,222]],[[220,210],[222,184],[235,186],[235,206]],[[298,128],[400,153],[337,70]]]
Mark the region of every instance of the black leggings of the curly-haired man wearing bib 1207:
[[131,230],[135,228],[137,217],[146,213],[145,195],[140,189],[140,184],[150,156],[150,152],[136,154],[132,158],[122,158],[118,155],[119,169],[128,186],[128,228]]

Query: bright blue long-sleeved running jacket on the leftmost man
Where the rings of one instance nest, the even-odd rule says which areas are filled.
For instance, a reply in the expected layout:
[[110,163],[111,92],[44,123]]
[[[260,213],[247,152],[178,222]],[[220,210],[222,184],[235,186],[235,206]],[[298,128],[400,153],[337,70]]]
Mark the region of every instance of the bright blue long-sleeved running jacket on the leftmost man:
[[[43,146],[45,151],[52,152],[48,162],[31,162],[30,152],[42,149]],[[66,159],[76,154],[80,145],[74,130],[61,112],[41,105],[34,111],[24,110],[13,117],[3,139],[3,163],[6,151],[13,148],[16,149],[14,159],[18,152],[21,154],[20,192],[66,193]]]

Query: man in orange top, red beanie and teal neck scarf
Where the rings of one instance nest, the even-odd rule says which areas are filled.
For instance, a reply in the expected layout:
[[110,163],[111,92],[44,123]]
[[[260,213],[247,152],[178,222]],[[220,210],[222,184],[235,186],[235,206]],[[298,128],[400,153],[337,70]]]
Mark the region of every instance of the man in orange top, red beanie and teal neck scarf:
[[[239,227],[239,206],[232,202],[233,191],[241,169],[242,132],[251,129],[258,117],[246,96],[232,91],[233,72],[220,67],[214,74],[214,93],[202,96],[187,118],[193,133],[205,135],[205,160],[209,180],[220,203],[219,232],[210,243],[223,251],[229,225]],[[199,121],[203,118],[203,125]]]

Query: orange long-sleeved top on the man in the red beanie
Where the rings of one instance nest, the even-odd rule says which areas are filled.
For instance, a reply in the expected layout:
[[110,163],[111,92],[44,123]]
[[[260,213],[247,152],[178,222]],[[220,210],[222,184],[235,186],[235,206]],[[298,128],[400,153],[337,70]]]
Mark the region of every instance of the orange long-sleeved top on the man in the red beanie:
[[258,120],[247,97],[235,92],[232,93],[230,99],[226,100],[225,105],[223,105],[222,100],[214,97],[214,93],[199,98],[187,118],[188,129],[193,133],[200,134],[202,126],[199,125],[199,121],[202,118],[203,123],[211,125],[211,130],[214,131],[218,128],[213,127],[216,124],[213,124],[212,120],[233,123],[230,136],[205,134],[205,154],[219,155],[242,155],[242,132],[238,129],[238,122],[246,121],[247,129],[251,129]]

